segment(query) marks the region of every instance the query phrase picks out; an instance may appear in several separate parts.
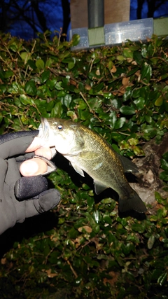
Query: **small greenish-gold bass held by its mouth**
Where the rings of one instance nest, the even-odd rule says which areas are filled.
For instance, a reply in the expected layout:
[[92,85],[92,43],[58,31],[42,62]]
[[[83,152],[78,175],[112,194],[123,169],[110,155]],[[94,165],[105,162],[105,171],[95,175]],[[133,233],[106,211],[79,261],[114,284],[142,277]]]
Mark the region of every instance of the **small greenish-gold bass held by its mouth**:
[[125,172],[138,172],[137,166],[116,153],[103,137],[80,123],[60,118],[41,118],[38,130],[43,146],[55,146],[80,176],[86,172],[92,177],[97,195],[111,188],[118,193],[120,212],[146,212],[146,205],[125,176]]

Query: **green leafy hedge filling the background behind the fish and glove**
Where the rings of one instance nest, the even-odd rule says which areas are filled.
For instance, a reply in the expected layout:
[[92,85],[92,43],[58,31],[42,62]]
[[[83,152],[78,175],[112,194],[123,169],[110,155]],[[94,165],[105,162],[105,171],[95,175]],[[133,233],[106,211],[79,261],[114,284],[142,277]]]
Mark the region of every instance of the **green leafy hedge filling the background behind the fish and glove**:
[[[34,130],[43,117],[69,118],[120,154],[144,155],[168,129],[168,41],[71,52],[50,32],[25,42],[1,35],[0,133]],[[168,155],[161,179],[167,190]],[[50,174],[58,209],[1,236],[1,298],[168,298],[167,198],[146,217],[118,214],[116,195],[94,197],[92,181],[57,154]]]

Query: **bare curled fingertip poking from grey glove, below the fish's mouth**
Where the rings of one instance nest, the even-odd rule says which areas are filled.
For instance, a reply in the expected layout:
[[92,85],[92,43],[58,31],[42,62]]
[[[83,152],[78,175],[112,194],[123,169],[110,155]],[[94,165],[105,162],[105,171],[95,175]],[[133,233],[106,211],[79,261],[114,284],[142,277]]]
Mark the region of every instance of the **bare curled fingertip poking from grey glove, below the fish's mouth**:
[[47,169],[47,163],[39,158],[26,160],[20,165],[22,176],[37,176],[47,172]]

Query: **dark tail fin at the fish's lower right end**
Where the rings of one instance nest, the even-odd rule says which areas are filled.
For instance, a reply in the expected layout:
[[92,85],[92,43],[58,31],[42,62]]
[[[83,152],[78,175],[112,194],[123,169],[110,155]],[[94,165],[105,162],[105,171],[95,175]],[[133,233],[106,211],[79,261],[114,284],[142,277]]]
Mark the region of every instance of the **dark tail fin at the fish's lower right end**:
[[121,212],[134,210],[139,213],[145,213],[147,211],[144,202],[134,190],[132,190],[129,197],[125,199],[119,198],[118,203]]

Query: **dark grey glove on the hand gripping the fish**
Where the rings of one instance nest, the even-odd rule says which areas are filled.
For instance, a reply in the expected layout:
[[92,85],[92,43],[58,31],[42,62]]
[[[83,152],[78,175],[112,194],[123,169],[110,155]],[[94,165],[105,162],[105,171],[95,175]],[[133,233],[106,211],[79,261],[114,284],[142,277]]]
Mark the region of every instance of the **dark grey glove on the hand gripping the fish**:
[[48,190],[45,177],[20,175],[21,162],[33,154],[25,151],[37,134],[38,130],[0,136],[0,234],[59,203],[59,191]]

